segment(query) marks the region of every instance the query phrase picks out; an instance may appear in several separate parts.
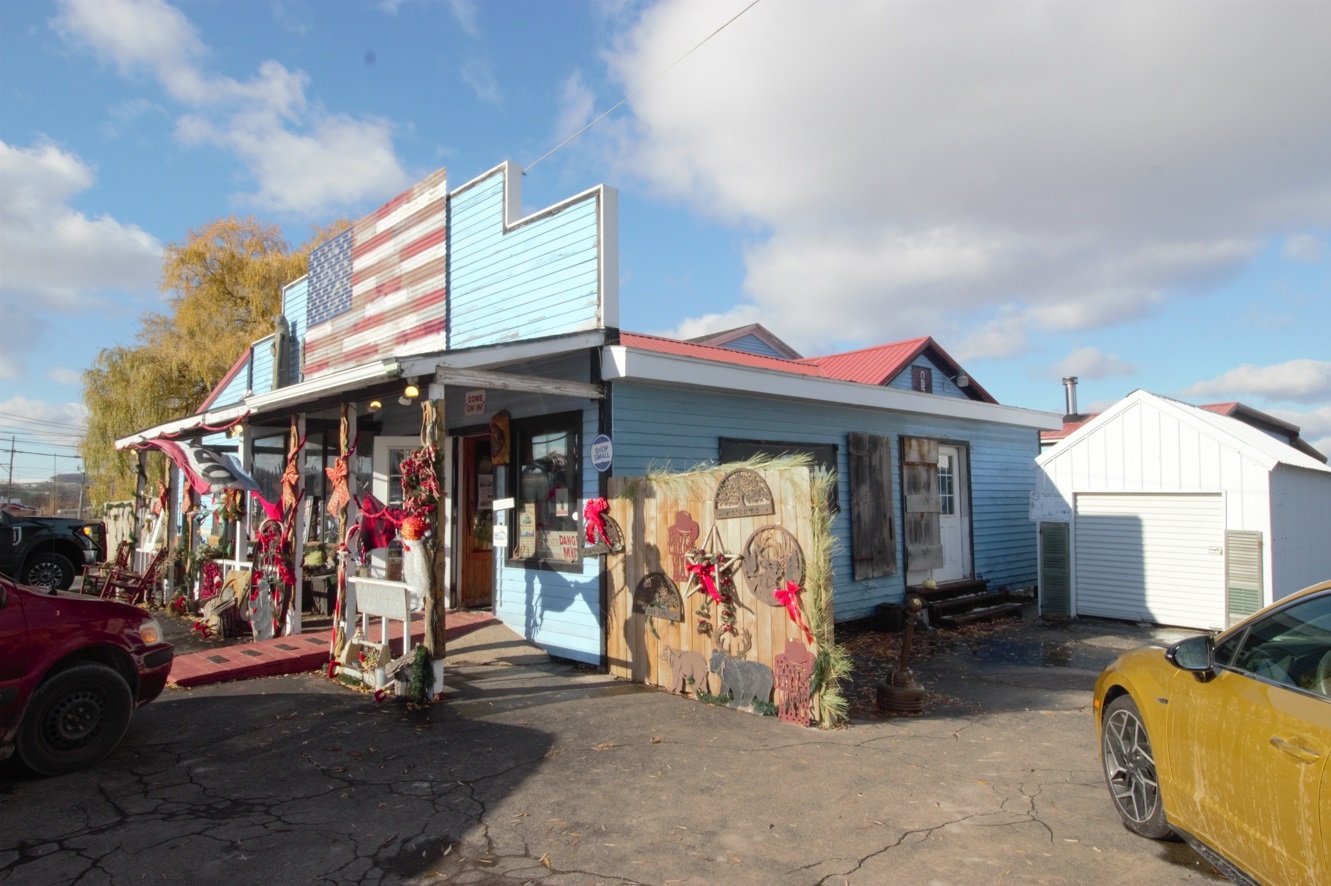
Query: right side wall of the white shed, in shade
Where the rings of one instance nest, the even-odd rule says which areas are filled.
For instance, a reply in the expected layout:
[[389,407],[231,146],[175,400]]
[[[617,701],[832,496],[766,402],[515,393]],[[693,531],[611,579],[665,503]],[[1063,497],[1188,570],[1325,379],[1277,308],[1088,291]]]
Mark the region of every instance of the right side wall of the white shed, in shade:
[[1276,467],[1271,472],[1271,507],[1270,599],[1331,579],[1331,474]]

